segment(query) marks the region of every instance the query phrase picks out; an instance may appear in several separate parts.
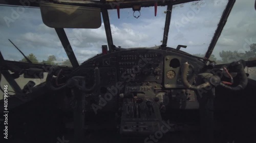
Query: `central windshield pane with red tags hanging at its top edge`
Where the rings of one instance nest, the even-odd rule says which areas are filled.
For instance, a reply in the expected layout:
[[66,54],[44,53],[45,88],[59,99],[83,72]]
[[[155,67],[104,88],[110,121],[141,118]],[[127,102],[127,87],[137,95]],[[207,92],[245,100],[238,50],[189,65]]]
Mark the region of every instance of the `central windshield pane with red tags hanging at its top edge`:
[[166,10],[167,6],[158,7],[157,16],[155,16],[154,7],[141,8],[140,12],[134,12],[131,8],[121,9],[120,19],[116,9],[109,10],[114,44],[122,48],[161,45]]

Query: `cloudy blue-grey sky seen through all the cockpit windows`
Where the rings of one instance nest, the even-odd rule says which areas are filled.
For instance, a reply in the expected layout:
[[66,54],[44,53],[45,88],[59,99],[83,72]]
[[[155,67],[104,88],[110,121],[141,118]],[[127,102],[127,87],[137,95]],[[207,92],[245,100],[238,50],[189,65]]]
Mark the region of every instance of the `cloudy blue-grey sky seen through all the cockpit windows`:
[[[205,53],[215,33],[227,1],[200,1],[177,5],[172,12],[167,46],[187,45],[188,53]],[[248,43],[256,43],[256,11],[254,1],[237,0],[216,45],[214,54],[219,58],[222,50],[248,50]],[[154,16],[154,7],[142,8],[141,16],[133,17],[132,9],[121,9],[120,19],[116,10],[110,10],[113,41],[124,48],[152,47],[160,45],[166,7],[159,7]],[[8,22],[9,21],[9,22]],[[101,52],[107,45],[103,24],[98,29],[65,29],[79,62]],[[53,28],[42,23],[39,9],[0,8],[0,50],[6,60],[21,60],[23,56],[8,41],[12,40],[25,55],[34,53],[41,62],[49,55],[57,61],[67,55]]]

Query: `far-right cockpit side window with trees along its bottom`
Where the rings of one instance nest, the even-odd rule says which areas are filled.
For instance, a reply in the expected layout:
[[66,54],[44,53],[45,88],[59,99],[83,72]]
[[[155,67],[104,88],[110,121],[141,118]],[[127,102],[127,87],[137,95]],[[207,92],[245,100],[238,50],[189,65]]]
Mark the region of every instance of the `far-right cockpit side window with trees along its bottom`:
[[[215,46],[217,64],[256,58],[255,1],[239,0],[234,6]],[[256,70],[254,70],[256,73]]]

